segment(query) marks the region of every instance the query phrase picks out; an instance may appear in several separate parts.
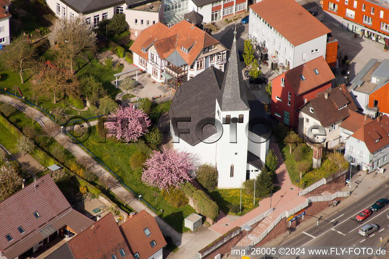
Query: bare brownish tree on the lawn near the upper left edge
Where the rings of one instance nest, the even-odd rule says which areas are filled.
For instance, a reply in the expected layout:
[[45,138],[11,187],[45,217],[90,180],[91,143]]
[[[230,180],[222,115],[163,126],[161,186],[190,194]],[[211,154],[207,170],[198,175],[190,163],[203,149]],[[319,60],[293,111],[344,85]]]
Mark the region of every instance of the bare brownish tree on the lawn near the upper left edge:
[[24,83],[23,71],[31,69],[36,64],[36,53],[23,35],[6,46],[2,56],[6,68],[19,72],[21,83]]

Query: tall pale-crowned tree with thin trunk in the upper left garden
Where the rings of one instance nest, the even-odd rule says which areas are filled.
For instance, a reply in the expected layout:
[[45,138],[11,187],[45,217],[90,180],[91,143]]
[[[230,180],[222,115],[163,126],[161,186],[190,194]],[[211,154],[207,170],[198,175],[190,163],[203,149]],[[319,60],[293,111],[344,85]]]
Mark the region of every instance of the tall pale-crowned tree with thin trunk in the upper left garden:
[[90,30],[90,24],[86,23],[83,14],[72,19],[62,17],[57,20],[53,35],[56,42],[63,43],[60,50],[69,57],[72,73],[75,56],[82,49],[92,49],[96,46],[96,33]]

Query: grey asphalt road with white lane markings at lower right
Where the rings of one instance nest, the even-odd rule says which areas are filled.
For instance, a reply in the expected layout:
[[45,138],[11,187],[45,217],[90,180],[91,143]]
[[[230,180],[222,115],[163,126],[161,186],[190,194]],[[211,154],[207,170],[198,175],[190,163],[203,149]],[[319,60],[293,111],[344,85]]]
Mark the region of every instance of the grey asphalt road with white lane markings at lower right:
[[[334,214],[326,217],[325,219],[319,218],[319,226],[311,226],[305,229],[298,235],[284,240],[279,246],[377,246],[380,245],[380,237],[384,239],[382,246],[389,246],[387,236],[389,236],[389,219],[386,218],[386,214],[389,212],[389,205],[381,210],[374,211],[370,217],[364,220],[364,222],[356,221],[355,217],[361,210],[370,209],[370,206],[380,198],[389,199],[389,189],[383,187],[388,184],[386,181],[382,186],[371,190],[361,200],[351,202],[346,207],[338,210]],[[347,202],[347,198],[341,202]],[[314,217],[310,219],[316,221]],[[378,225],[378,231],[371,233],[368,237],[362,236],[358,233],[361,226],[373,223]],[[301,256],[302,257],[302,256]],[[349,258],[350,256],[348,256]],[[251,257],[251,258],[263,258]],[[270,259],[272,257],[266,257]],[[275,257],[274,257],[275,258]],[[286,258],[299,258],[296,256],[282,256],[282,259]],[[302,258],[320,258],[320,257],[302,257]],[[324,257],[322,257],[324,258]],[[325,257],[331,258],[331,257]],[[335,257],[333,257],[335,258]],[[338,257],[339,258],[339,257]],[[352,258],[369,258],[369,257],[352,257]],[[371,257],[373,258],[373,257]],[[386,258],[386,257],[377,257]]]

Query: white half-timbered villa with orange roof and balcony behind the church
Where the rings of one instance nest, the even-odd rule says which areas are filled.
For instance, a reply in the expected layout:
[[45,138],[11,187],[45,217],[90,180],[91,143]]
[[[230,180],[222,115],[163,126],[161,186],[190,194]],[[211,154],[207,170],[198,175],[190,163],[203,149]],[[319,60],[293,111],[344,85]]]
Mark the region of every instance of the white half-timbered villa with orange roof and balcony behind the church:
[[130,49],[135,66],[163,83],[161,88],[174,91],[210,66],[224,71],[227,53],[220,42],[185,20],[170,28],[162,23],[146,28]]

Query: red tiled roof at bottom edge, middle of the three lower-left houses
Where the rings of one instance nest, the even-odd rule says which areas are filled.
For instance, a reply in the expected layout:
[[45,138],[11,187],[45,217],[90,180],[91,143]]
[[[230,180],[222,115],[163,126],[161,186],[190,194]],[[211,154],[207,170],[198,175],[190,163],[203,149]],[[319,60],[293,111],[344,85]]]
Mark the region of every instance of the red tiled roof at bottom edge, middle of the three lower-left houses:
[[[70,239],[68,246],[75,259],[107,259],[112,254],[116,258],[134,259],[112,213]],[[124,257],[119,254],[120,249],[124,250]]]

